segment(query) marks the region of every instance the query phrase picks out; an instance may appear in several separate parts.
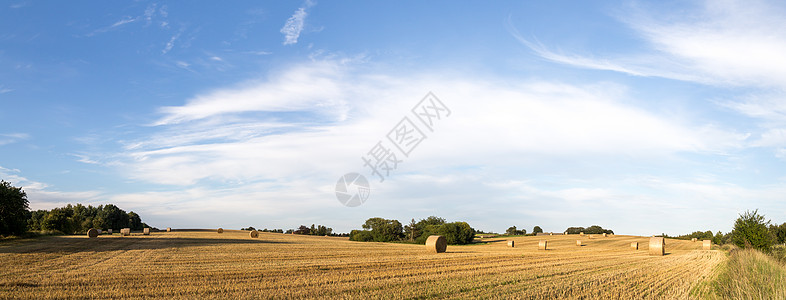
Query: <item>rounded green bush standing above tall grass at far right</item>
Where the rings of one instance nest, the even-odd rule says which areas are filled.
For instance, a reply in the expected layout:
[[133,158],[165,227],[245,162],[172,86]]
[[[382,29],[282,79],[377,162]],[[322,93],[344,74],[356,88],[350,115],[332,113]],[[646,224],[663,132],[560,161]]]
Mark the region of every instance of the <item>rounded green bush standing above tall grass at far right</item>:
[[732,242],[740,248],[754,248],[769,253],[773,244],[769,224],[764,216],[759,215],[758,209],[745,211],[734,222],[734,230],[731,231]]

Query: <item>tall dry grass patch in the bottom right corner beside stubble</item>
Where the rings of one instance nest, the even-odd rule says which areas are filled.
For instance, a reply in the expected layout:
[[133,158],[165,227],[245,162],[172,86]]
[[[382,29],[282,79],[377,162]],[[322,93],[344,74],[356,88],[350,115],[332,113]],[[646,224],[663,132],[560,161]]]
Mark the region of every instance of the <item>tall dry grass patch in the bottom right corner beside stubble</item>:
[[786,299],[786,265],[762,252],[732,247],[718,275],[694,296],[705,299]]

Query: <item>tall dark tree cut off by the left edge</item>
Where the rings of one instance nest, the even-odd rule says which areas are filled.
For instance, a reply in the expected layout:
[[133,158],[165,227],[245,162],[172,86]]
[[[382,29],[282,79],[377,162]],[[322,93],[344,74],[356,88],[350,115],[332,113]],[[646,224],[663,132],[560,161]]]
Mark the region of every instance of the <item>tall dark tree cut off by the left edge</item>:
[[27,231],[29,204],[22,188],[0,180],[0,235],[20,235]]

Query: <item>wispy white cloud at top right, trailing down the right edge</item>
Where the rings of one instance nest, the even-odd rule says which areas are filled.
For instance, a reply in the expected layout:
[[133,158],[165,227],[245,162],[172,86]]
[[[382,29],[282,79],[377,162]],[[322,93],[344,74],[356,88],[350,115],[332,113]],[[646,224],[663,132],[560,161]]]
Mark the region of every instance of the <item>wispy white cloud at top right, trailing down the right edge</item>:
[[[663,77],[727,89],[713,100],[759,121],[751,146],[786,150],[775,138],[786,128],[786,6],[777,1],[704,1],[668,18],[656,9],[634,6],[619,15],[645,42],[638,53],[573,54],[555,51],[536,38],[512,35],[539,56],[581,68],[634,76]],[[510,24],[510,23],[509,23]],[[735,90],[736,89],[736,90]]]

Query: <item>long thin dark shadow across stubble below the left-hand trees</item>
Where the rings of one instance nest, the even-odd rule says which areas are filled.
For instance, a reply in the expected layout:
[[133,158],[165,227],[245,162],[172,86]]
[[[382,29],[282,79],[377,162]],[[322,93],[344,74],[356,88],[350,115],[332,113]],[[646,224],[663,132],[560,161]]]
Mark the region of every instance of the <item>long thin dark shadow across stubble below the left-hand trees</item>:
[[0,244],[0,253],[79,253],[124,250],[151,250],[185,248],[211,245],[240,244],[291,244],[261,239],[203,239],[181,237],[123,237],[96,238],[74,236],[47,236],[19,241],[11,245]]

